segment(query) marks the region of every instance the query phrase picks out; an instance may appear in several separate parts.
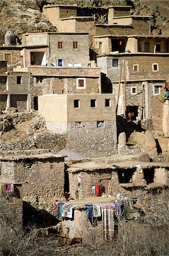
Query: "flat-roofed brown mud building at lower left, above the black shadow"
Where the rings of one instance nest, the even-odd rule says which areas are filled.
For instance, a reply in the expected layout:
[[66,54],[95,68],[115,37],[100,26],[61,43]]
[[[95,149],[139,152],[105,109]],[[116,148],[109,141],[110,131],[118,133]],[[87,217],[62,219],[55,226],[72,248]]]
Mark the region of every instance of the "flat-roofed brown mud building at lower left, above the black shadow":
[[2,183],[23,184],[23,200],[50,203],[64,195],[64,157],[53,154],[1,158]]

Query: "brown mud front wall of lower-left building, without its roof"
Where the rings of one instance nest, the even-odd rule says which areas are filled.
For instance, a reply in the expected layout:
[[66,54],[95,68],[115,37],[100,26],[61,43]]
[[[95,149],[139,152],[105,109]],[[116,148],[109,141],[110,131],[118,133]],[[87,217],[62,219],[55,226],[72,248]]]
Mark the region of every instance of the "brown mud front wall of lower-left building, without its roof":
[[64,195],[64,159],[17,162],[16,182],[23,184],[23,200],[50,203]]

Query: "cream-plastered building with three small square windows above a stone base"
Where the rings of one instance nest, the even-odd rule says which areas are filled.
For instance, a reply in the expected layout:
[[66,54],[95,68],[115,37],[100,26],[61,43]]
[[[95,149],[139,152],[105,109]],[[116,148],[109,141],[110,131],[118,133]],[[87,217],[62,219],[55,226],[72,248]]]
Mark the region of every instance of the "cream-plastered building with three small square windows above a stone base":
[[113,94],[47,94],[38,100],[48,129],[67,134],[67,148],[93,157],[116,154]]

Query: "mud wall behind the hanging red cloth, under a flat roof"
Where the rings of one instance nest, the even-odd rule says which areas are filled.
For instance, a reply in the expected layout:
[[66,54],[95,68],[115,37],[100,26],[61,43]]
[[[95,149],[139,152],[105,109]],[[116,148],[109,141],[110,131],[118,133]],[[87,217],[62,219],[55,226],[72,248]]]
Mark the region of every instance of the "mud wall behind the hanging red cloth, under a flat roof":
[[105,187],[105,193],[108,192],[108,184],[113,176],[112,193],[118,193],[119,179],[117,172],[112,169],[69,172],[70,197],[76,198],[75,192],[78,191],[79,199],[92,196],[92,186],[99,185],[100,181]]

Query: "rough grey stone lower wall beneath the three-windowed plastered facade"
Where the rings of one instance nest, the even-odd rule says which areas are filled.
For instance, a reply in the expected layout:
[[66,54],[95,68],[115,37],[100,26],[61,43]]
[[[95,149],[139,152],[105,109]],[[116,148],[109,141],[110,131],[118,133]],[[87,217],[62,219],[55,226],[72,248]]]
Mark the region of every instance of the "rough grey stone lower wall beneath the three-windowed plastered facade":
[[[101,121],[98,117],[98,121]],[[104,127],[97,127],[97,121],[69,122],[67,146],[87,157],[110,156],[117,153],[116,121],[105,120]]]

